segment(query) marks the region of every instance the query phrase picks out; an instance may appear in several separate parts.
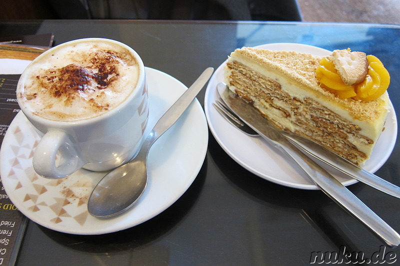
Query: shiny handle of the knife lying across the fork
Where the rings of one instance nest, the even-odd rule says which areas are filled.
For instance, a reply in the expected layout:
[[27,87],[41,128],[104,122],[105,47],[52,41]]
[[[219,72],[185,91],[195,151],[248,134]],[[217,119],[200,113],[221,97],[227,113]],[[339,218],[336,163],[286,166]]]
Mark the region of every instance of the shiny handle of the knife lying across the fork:
[[314,184],[359,222],[364,224],[388,246],[400,245],[400,235],[371,211],[339,181],[295,148],[290,142],[279,145],[286,155],[300,166]]

